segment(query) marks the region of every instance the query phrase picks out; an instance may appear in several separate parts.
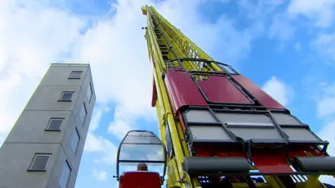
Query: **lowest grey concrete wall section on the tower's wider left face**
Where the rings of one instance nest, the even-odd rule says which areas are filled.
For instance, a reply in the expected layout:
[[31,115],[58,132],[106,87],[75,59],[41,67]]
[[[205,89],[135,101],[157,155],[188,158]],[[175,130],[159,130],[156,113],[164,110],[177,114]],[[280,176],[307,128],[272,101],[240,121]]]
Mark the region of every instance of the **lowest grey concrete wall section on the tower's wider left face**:
[[[0,150],[0,187],[47,187],[59,149],[59,144],[3,143]],[[52,153],[45,172],[27,171],[36,152]]]

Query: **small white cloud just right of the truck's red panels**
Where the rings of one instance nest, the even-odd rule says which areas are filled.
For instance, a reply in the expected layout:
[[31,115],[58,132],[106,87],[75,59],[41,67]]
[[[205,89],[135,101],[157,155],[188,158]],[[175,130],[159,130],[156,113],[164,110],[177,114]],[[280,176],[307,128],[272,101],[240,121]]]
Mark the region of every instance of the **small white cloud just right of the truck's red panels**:
[[268,93],[271,97],[274,97],[283,106],[287,106],[293,99],[295,93],[287,86],[283,81],[272,76],[267,82],[265,82],[262,89]]

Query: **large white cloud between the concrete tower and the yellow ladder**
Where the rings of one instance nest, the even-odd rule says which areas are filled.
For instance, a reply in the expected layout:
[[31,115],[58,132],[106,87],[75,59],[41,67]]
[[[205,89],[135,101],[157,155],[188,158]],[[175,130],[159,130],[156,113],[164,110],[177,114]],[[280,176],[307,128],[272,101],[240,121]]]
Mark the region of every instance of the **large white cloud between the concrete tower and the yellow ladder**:
[[154,118],[151,71],[141,29],[145,17],[140,7],[141,3],[119,1],[117,14],[87,31],[75,44],[72,57],[91,62],[98,102],[116,104],[109,130],[117,126],[118,132],[111,132],[120,138],[124,135],[119,130],[133,127],[137,118]]

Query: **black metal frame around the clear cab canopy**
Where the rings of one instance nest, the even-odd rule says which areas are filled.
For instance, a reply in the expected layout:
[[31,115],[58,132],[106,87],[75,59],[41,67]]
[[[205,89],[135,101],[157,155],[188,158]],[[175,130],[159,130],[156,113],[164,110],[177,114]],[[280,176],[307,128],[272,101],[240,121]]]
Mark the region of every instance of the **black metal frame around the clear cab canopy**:
[[[154,135],[156,137],[156,139],[158,139],[158,141],[160,141],[161,146],[163,146],[163,150],[164,150],[164,157],[165,157],[165,161],[150,161],[150,160],[120,160],[119,156],[120,156],[120,151],[121,151],[121,146],[123,144],[135,144],[135,143],[124,143],[124,140],[127,138],[128,134],[131,132],[149,132],[152,135]],[[143,143],[143,144],[147,144],[147,143]],[[154,143],[157,144],[158,143]],[[161,185],[163,185],[164,183],[164,178],[165,178],[165,174],[166,174],[166,167],[167,167],[167,161],[168,161],[168,154],[166,152],[166,147],[164,145],[164,143],[161,141],[161,139],[158,138],[158,136],[156,134],[154,134],[154,132],[151,131],[147,131],[147,130],[131,130],[128,131],[126,136],[124,136],[124,139],[121,140],[119,147],[117,148],[117,175],[114,175],[114,178],[117,179],[117,181],[119,181],[120,175],[119,175],[119,163],[120,162],[132,162],[132,163],[163,163],[164,167],[163,167],[163,175],[161,176]]]

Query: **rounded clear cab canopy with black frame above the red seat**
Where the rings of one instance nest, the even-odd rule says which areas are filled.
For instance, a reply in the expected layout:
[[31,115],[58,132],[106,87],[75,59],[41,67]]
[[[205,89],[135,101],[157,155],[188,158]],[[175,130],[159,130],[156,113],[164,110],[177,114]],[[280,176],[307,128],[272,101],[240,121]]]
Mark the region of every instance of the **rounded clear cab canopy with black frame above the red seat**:
[[[163,185],[167,167],[168,152],[161,139],[154,132],[147,130],[131,130],[121,140],[117,150],[117,181],[120,176],[120,164],[163,165],[161,182]],[[149,166],[148,165],[148,166]],[[158,173],[159,174],[159,173]]]

